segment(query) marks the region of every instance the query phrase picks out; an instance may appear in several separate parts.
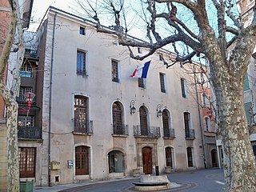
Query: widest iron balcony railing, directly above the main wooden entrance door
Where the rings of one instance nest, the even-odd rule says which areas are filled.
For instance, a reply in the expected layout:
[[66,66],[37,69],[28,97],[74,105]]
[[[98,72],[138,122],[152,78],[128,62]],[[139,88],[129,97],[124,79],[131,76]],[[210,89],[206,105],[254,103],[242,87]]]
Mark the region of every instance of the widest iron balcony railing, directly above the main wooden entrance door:
[[134,137],[146,136],[148,138],[160,138],[160,127],[147,126],[142,127],[140,125],[134,126]]

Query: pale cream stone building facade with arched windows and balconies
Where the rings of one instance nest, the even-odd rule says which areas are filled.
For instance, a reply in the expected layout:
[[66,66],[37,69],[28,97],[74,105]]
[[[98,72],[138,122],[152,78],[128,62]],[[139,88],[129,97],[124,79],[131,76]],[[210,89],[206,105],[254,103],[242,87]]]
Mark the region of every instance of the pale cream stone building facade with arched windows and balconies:
[[[37,186],[204,168],[194,75],[166,69],[166,55],[131,59],[114,35],[50,7],[38,28]],[[147,78],[130,78],[147,61]]]

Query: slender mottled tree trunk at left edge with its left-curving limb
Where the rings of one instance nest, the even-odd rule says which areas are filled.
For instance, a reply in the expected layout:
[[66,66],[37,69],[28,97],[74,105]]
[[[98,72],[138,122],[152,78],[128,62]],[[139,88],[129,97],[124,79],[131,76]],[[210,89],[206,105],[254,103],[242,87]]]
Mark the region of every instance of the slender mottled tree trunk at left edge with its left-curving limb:
[[[7,191],[19,191],[19,165],[18,165],[18,131],[17,131],[17,117],[18,117],[18,103],[15,100],[12,91],[6,87],[4,72],[7,66],[10,50],[14,42],[14,34],[17,26],[17,19],[19,18],[18,0],[9,1],[11,7],[11,19],[9,26],[9,34],[6,38],[5,45],[2,49],[0,57],[0,94],[6,104],[6,135],[7,135]],[[21,20],[20,20],[21,21]],[[21,25],[21,23],[19,24]]]

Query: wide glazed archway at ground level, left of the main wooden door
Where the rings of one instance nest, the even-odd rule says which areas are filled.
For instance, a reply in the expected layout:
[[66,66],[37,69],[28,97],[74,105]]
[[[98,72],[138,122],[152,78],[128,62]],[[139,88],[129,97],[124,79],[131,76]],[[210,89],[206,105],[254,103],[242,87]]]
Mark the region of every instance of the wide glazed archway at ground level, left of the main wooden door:
[[124,172],[124,158],[121,151],[112,150],[109,155],[109,172],[110,173],[123,173]]

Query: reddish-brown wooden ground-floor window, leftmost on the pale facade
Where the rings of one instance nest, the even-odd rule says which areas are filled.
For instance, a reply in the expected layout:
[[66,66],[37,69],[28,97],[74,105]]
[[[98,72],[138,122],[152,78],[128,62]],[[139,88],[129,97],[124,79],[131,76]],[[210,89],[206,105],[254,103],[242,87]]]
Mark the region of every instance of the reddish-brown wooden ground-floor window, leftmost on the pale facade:
[[90,148],[88,146],[75,147],[75,174],[89,174]]

